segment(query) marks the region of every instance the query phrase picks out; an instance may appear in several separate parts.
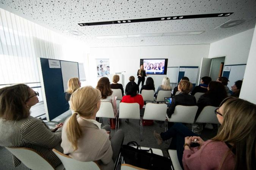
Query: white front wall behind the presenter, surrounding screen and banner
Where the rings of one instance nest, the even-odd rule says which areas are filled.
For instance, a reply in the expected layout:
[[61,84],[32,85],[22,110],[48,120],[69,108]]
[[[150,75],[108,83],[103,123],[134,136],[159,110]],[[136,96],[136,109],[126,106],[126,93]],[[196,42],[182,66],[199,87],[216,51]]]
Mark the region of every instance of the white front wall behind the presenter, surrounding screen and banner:
[[[90,84],[95,87],[97,84],[95,59],[110,59],[111,74],[126,71],[124,73],[124,84],[126,85],[129,82],[129,76],[134,76],[135,82],[138,81],[137,71],[140,68],[140,59],[168,58],[168,66],[200,67],[201,58],[207,57],[208,52],[209,44],[90,48],[88,79]],[[151,75],[156,88],[162,83],[165,76]]]

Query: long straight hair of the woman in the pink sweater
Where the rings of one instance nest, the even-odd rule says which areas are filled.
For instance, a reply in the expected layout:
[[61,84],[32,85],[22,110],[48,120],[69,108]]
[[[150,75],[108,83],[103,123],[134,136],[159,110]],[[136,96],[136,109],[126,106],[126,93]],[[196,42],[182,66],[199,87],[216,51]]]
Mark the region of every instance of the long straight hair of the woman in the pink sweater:
[[[228,97],[223,102],[223,123],[212,140],[233,144],[231,150],[236,150],[234,170],[255,169],[256,105],[234,97]],[[228,153],[223,156],[220,169]]]

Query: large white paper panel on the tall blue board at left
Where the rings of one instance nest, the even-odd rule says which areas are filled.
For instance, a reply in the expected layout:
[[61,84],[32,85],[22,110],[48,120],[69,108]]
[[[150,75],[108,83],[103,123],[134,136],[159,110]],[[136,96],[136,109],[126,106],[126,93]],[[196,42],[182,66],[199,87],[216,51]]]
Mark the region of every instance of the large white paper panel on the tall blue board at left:
[[68,80],[72,77],[79,77],[78,73],[78,63],[77,62],[68,62],[60,61],[61,73],[63,79],[63,90],[64,92],[68,89]]

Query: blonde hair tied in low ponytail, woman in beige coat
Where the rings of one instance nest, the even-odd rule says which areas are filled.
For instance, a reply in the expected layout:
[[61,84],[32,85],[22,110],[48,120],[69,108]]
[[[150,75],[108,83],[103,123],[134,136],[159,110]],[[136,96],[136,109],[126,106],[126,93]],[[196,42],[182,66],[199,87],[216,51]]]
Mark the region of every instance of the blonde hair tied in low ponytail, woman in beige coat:
[[97,103],[100,99],[101,92],[91,86],[79,88],[72,94],[70,107],[74,110],[74,114],[67,122],[66,134],[74,150],[77,150],[77,140],[82,135],[81,128],[77,122],[77,114],[82,117],[90,117],[97,108]]

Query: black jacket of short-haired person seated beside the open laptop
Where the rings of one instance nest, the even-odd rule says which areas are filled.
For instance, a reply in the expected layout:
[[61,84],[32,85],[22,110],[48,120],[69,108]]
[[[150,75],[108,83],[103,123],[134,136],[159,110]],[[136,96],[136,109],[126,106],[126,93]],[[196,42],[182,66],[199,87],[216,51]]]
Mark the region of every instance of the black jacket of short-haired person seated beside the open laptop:
[[177,105],[183,105],[183,106],[195,106],[196,105],[196,98],[195,96],[180,93],[175,96],[173,96],[171,100],[171,105],[167,108],[167,115],[170,118],[173,114],[175,107]]

